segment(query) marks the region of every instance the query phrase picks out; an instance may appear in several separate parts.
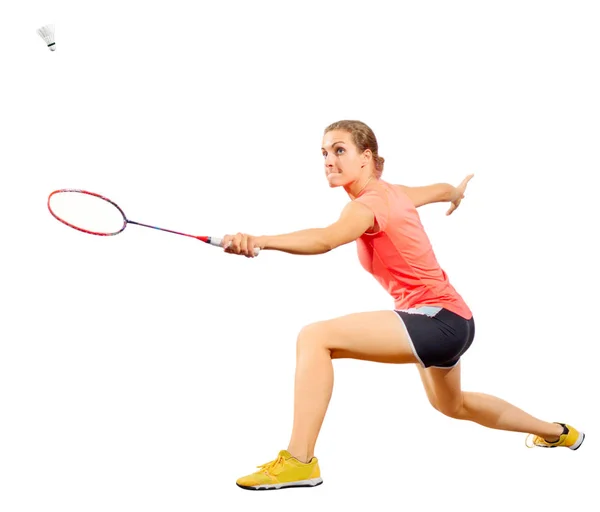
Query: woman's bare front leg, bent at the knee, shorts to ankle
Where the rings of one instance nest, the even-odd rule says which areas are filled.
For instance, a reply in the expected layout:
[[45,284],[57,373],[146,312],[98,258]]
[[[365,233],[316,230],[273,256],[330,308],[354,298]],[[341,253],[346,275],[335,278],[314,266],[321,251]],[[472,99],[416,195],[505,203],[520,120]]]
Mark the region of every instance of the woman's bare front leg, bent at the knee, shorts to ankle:
[[332,359],[416,363],[406,329],[393,311],[374,311],[304,327],[296,346],[294,426],[288,451],[302,462],[315,444],[333,389]]

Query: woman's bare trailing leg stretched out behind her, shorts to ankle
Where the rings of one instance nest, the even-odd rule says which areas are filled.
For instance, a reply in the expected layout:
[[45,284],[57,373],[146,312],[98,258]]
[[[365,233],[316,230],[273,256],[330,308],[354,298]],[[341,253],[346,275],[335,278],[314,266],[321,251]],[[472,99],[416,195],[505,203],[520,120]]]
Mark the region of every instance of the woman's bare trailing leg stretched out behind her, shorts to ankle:
[[535,418],[500,398],[462,391],[460,362],[450,369],[421,366],[418,369],[431,405],[446,416],[489,428],[535,434],[548,441],[557,440],[563,433],[557,423]]

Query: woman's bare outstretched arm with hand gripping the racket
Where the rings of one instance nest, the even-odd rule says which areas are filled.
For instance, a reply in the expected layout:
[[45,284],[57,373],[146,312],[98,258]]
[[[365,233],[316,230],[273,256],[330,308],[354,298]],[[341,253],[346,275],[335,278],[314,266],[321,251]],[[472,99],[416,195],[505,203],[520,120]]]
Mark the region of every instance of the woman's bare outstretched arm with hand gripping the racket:
[[373,212],[365,205],[348,203],[339,219],[325,228],[312,228],[284,235],[251,236],[244,233],[223,237],[225,252],[254,257],[254,248],[289,254],[324,254],[353,242],[373,226]]

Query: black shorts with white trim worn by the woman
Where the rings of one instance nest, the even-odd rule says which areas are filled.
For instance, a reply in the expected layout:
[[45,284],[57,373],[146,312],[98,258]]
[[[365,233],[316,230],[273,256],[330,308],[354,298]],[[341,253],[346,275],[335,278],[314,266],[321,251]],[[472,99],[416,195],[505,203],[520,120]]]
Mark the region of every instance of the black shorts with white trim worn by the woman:
[[417,359],[428,368],[451,368],[473,343],[475,322],[441,307],[395,310]]

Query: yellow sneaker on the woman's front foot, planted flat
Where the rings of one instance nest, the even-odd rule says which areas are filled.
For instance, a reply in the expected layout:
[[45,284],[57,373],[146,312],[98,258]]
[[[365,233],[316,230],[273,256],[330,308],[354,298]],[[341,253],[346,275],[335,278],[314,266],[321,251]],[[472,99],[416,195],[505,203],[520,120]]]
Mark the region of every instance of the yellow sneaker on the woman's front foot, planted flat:
[[313,457],[309,462],[300,462],[287,450],[281,450],[275,460],[261,466],[256,473],[239,478],[236,484],[242,489],[262,491],[285,487],[314,487],[321,485],[319,461]]

